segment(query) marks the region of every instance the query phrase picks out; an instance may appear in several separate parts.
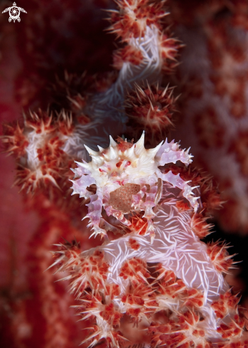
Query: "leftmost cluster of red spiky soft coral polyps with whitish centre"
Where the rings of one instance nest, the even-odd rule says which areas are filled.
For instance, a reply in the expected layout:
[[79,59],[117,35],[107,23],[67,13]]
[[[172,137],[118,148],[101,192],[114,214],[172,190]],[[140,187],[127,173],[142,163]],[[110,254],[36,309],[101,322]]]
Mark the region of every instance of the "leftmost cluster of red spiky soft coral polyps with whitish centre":
[[59,187],[69,170],[63,146],[73,131],[72,118],[65,112],[49,115],[39,110],[25,116],[23,127],[7,125],[6,130],[7,151],[18,159],[15,184],[32,192],[49,182]]

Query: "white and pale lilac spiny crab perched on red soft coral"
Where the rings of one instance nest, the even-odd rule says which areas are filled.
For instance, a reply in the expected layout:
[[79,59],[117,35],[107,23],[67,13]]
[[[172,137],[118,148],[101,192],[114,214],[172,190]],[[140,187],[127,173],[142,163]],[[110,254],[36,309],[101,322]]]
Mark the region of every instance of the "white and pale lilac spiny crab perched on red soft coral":
[[[166,142],[161,142],[154,149],[145,149],[143,132],[136,144],[126,140],[117,143],[110,137],[107,149],[99,147],[99,152],[88,147],[86,149],[92,161],[76,162],[78,168],[72,170],[80,179],[72,181],[72,194],[80,194],[80,197],[85,199],[90,198],[86,217],[90,219],[88,226],[94,230],[92,235],[106,234],[105,229],[101,228],[103,225],[106,226],[102,218],[102,207],[107,216],[114,216],[126,226],[131,223],[124,214],[144,211],[144,217],[148,221],[146,234],[150,234],[153,241],[153,207],[161,198],[163,181],[181,189],[185,199],[188,199],[197,211],[198,197],[193,195],[194,188],[181,179],[179,174],[174,175],[171,171],[163,174],[158,168],[171,162],[180,161],[187,165],[192,162],[192,155],[180,149],[174,141],[168,143],[166,139]],[[95,194],[89,190],[89,186],[94,184]]]

